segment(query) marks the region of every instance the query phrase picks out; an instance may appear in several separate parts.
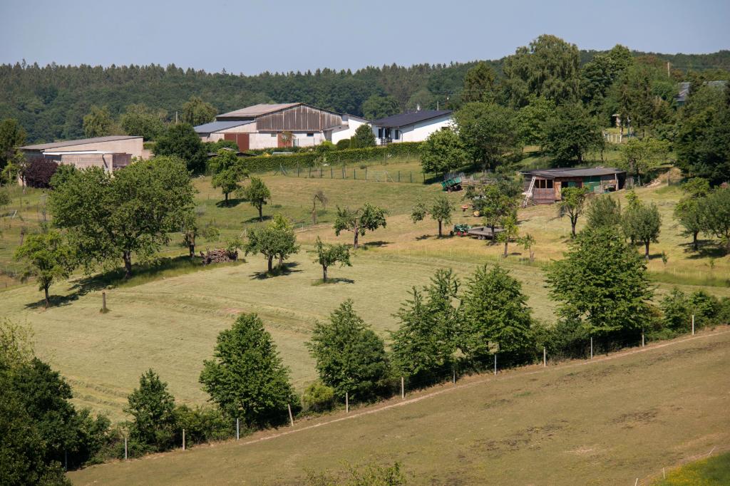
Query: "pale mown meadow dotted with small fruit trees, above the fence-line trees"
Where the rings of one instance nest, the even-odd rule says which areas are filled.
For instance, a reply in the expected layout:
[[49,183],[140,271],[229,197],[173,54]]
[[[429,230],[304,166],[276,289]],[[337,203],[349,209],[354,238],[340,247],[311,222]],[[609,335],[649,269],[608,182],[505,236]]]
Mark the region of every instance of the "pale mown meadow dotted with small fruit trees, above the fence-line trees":
[[[266,262],[260,255],[203,270],[181,257],[187,255],[187,248],[180,245],[180,236],[172,235],[163,252],[171,260],[138,269],[137,277],[121,284],[77,274],[69,282],[53,285],[55,305],[47,310],[42,309],[42,293],[36,285],[4,277],[0,282],[0,316],[31,325],[37,353],[69,379],[76,403],[107,413],[112,420],[124,418],[126,396],[149,368],[169,382],[178,401],[204,403],[207,397],[197,381],[202,362],[212,355],[215,337],[239,312],[261,315],[291,369],[296,388],[302,390],[315,379],[304,342],[316,320],[326,319],[345,298],[353,298],[356,310],[387,341],[388,331],[397,326],[393,313],[413,285],[426,284],[438,268],[453,268],[466,277],[479,264],[502,261],[502,245],[460,237],[438,239],[434,221],[411,222],[412,206],[439,194],[439,184],[370,180],[385,171],[392,178],[393,172],[401,171],[403,177],[406,171],[420,174],[419,169],[417,160],[401,159],[369,165],[367,181],[359,175],[357,180],[330,179],[326,171],[322,178],[296,177],[291,171],[288,175],[264,174],[273,196],[264,215],[281,212],[290,217],[301,243],[301,252],[293,255],[288,271],[280,276],[264,274]],[[335,177],[341,175],[337,170],[334,168]],[[362,169],[358,166],[356,170],[359,174]],[[210,178],[199,177],[194,183],[199,190],[199,219],[220,228],[221,239],[240,234],[248,225],[261,224],[256,209],[247,202],[234,199],[230,206],[223,205],[220,190],[210,187]],[[323,190],[328,204],[326,209],[319,209],[318,224],[314,225],[312,196],[317,190]],[[17,269],[12,252],[20,242],[21,228],[37,228],[42,221],[44,196],[40,190],[26,190],[24,195],[20,188],[12,191],[9,209],[19,211],[12,220],[6,216],[0,222],[4,231],[0,268]],[[663,217],[659,243],[652,244],[648,263],[658,295],[677,285],[687,291],[706,288],[717,296],[730,296],[730,257],[709,243],[698,254],[690,252],[689,239],[680,235],[672,219],[672,209],[682,196],[680,189],[663,182],[637,193],[644,201],[656,202]],[[619,196],[623,199],[625,193]],[[457,207],[463,204],[463,193],[450,197]],[[355,253],[352,267],[330,269],[334,282],[317,285],[321,273],[311,253],[315,239],[320,236],[326,242],[351,242],[350,233],[334,235],[331,223],[335,208],[357,207],[366,201],[388,209],[388,226],[361,239],[364,248]],[[519,219],[520,233],[537,239],[536,260],[530,263],[525,250],[510,244],[504,265],[522,282],[534,316],[550,322],[554,303],[548,298],[542,268],[562,257],[569,242],[569,220],[556,218],[553,206],[521,209]],[[453,223],[476,225],[480,219],[457,209]],[[579,228],[582,226],[580,220]],[[200,239],[198,250],[219,244]],[[662,251],[669,256],[666,265],[661,261]],[[107,292],[111,311],[105,315],[99,313],[102,290]]]

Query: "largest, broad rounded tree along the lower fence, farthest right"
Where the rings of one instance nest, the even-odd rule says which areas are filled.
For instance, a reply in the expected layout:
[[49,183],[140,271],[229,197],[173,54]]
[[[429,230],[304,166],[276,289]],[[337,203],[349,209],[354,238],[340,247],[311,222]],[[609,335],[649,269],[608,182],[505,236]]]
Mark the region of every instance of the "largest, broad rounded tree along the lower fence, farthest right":
[[591,336],[645,328],[653,290],[646,263],[615,227],[585,228],[548,270],[558,316]]

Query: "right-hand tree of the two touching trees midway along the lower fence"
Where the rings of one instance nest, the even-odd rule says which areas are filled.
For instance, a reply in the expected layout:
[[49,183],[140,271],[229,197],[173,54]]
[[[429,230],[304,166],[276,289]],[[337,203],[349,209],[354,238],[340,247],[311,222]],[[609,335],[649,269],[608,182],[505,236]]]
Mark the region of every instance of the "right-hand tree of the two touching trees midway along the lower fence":
[[466,281],[462,305],[461,348],[472,360],[499,352],[523,357],[531,349],[531,309],[522,285],[501,266],[480,266]]

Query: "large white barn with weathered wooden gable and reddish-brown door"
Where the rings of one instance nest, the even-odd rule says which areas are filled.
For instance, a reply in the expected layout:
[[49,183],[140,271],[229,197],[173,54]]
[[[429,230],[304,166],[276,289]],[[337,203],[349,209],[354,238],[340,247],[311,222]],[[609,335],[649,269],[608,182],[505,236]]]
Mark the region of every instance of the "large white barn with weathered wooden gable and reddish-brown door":
[[350,138],[366,121],[305,103],[255,104],[218,115],[214,122],[196,126],[195,131],[204,142],[232,140],[244,152],[312,147],[325,140]]

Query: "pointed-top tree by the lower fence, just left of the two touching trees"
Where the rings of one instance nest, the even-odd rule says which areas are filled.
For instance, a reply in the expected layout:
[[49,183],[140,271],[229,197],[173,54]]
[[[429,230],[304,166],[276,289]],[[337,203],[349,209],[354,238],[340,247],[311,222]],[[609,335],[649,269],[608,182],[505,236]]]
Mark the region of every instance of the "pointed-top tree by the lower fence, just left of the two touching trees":
[[347,300],[335,309],[326,323],[316,323],[307,342],[315,369],[335,396],[367,400],[383,389],[390,366],[383,339],[353,309]]

